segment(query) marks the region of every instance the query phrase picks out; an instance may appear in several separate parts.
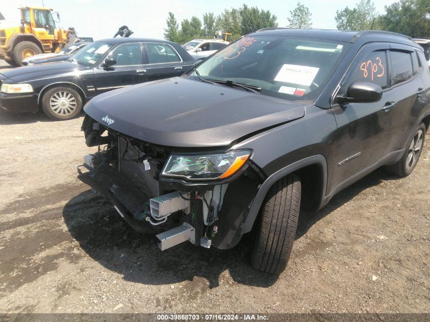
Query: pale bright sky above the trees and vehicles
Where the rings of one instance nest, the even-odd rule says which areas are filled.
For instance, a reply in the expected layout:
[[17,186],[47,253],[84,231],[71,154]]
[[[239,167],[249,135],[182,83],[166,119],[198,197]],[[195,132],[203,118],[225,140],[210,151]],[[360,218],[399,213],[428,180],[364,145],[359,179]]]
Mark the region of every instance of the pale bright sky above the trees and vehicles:
[[[312,14],[312,27],[336,29],[334,15],[336,10],[354,7],[359,0],[300,0]],[[74,27],[81,37],[93,37],[94,40],[112,37],[122,25],[127,25],[133,32],[132,37],[162,39],[168,12],[175,14],[178,23],[190,19],[193,15],[202,20],[203,14],[213,12],[216,15],[224,9],[239,8],[245,0],[0,0],[0,12],[7,20],[19,24],[20,6],[42,6],[60,13],[60,26]],[[298,2],[298,1],[297,1]],[[246,0],[250,7],[270,10],[277,17],[279,26],[286,26],[290,11],[296,1],[286,0]],[[377,10],[383,14],[384,6],[394,0],[374,0]],[[227,31],[226,31],[227,32]]]

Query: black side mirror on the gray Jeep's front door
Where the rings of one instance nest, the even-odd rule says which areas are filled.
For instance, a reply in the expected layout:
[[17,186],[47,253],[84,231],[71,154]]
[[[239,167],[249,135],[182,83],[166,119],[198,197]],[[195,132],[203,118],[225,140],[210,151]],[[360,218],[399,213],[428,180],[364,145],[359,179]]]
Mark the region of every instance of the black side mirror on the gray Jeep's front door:
[[374,103],[382,98],[381,86],[368,82],[353,82],[347,91],[347,97],[336,96],[338,103]]

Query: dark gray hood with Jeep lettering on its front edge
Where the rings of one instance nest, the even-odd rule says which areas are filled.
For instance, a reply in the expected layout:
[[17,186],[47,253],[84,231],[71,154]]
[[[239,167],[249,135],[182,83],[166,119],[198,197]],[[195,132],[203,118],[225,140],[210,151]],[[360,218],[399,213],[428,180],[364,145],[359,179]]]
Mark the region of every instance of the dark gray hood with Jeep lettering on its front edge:
[[146,142],[210,148],[302,118],[305,108],[302,103],[175,77],[99,95],[84,111],[102,125]]

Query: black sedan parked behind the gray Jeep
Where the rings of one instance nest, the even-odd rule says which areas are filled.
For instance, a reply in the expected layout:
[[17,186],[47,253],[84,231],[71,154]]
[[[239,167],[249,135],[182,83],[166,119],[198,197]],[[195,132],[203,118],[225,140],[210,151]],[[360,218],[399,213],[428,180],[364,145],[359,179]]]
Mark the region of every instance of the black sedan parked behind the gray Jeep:
[[41,107],[54,120],[69,120],[100,93],[178,76],[194,63],[180,45],[165,40],[100,40],[68,61],[0,73],[0,107],[10,112],[37,112]]

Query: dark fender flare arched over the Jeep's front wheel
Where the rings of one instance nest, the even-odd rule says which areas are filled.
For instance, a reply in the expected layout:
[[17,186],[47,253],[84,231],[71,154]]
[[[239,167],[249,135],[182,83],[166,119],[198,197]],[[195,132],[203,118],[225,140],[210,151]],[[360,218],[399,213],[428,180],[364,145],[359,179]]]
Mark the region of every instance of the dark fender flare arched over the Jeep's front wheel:
[[[278,181],[279,179],[285,177],[285,175],[288,175],[290,173],[293,173],[305,166],[318,164],[321,166],[321,169],[323,171],[323,194],[321,196],[321,204],[325,202],[325,195],[327,190],[327,160],[323,155],[314,155],[311,157],[307,157],[305,159],[296,161],[284,168],[279,169],[278,171],[271,174],[261,185],[259,192],[257,192],[253,202],[252,206],[249,210],[248,216],[246,216],[245,222],[243,223],[241,227],[241,231],[239,235],[243,235],[246,232],[251,231],[252,226],[254,225],[255,218],[260,212],[260,208],[264,202],[264,199],[270,189],[270,187],[273,186],[273,184]],[[321,205],[320,205],[321,207]]]

